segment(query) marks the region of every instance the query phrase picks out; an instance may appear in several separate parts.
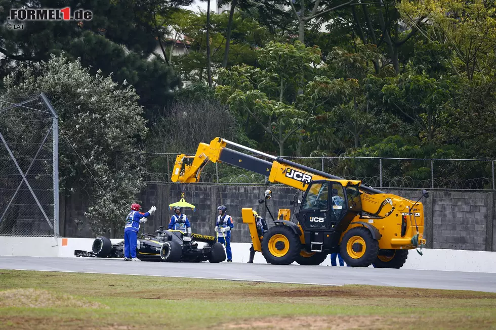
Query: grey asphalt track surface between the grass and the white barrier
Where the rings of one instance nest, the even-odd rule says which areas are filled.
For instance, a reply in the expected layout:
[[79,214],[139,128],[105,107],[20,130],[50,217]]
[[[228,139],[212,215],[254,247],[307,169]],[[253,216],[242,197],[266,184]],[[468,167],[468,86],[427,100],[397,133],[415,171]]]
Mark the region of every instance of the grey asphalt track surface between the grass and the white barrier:
[[255,263],[131,262],[110,258],[11,256],[0,256],[0,269],[212,278],[327,286],[362,284],[496,293],[496,274],[458,271],[286,266]]

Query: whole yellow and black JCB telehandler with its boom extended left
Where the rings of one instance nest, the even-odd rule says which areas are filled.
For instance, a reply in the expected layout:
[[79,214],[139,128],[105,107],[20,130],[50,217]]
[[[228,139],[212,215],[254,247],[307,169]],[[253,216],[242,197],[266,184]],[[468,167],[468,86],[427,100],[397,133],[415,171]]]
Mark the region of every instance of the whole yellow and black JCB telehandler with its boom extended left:
[[[232,149],[237,147],[270,159],[266,161]],[[190,164],[188,163],[190,160]],[[268,263],[319,265],[329,253],[340,252],[344,261],[354,267],[400,268],[408,250],[422,247],[424,209],[423,190],[417,202],[388,194],[289,160],[268,155],[216,137],[210,145],[200,143],[195,156],[176,157],[172,181],[194,183],[204,166],[220,162],[240,167],[303,191],[298,223],[290,221],[291,211],[281,209],[274,226],[257,231],[256,215],[243,208],[243,222],[250,228],[255,251],[262,252]],[[265,202],[271,192],[265,194]],[[295,203],[295,201],[293,201]],[[269,210],[270,213],[270,210]],[[418,250],[417,250],[418,251]],[[419,252],[422,255],[422,252]]]

